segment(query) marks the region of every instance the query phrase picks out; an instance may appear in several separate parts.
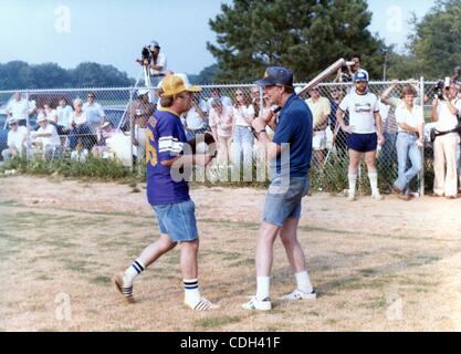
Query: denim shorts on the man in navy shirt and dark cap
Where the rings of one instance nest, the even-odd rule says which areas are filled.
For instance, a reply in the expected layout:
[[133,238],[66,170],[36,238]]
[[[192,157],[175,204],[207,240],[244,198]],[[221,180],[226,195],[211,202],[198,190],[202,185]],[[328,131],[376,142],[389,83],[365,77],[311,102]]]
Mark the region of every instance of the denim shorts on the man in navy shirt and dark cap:
[[301,199],[307,195],[307,177],[290,177],[272,180],[265,195],[262,219],[282,227],[286,219],[301,217]]

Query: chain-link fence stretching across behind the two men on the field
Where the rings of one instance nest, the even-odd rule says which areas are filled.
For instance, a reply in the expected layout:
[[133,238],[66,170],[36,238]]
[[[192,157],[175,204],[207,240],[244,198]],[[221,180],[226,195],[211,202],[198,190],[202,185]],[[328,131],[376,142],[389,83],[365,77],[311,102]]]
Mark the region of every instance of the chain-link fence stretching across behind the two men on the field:
[[[378,97],[391,85],[391,82],[370,82],[369,91]],[[412,84],[418,92],[418,104],[425,106],[426,123],[430,123],[431,97],[436,83],[419,81],[398,82],[390,97],[400,97],[402,85]],[[296,87],[303,87],[297,83]],[[318,85],[321,97],[328,101],[331,113],[324,125],[326,142],[322,149],[313,153],[311,168],[311,184],[313,191],[342,192],[348,188],[347,166],[348,154],[346,147],[346,134],[338,129],[335,113],[340,100],[352,90],[352,83],[322,83]],[[232,85],[203,85],[197,95],[195,115],[184,117],[187,136],[193,137],[195,133],[210,131],[210,114],[212,98],[219,97],[224,105],[233,105],[238,95],[243,94],[253,105],[255,116],[262,114],[264,106],[262,90],[251,84]],[[145,158],[145,131],[148,117],[155,111],[155,103],[149,104],[138,97],[138,93],[147,88],[119,87],[119,88],[76,88],[76,90],[27,90],[0,92],[0,159],[11,158],[4,150],[8,149],[7,111],[14,115],[27,106],[28,114],[19,116],[20,129],[25,131],[23,145],[18,152],[29,160],[64,160],[75,162],[81,165],[95,160],[117,162],[128,168],[140,166]],[[20,101],[14,95],[20,95]],[[148,96],[148,95],[145,95]],[[151,94],[155,97],[155,94]],[[307,100],[308,96],[302,97]],[[158,98],[154,98],[157,101]],[[15,102],[17,101],[17,102]],[[15,102],[15,103],[14,103]],[[197,111],[201,111],[202,121],[197,121]],[[395,108],[391,105],[380,104],[385,145],[377,152],[379,187],[381,192],[390,191],[390,186],[397,178],[397,123]],[[347,115],[346,115],[347,121]],[[46,122],[46,123],[44,123]],[[410,186],[413,192],[423,195],[425,189],[432,188],[432,146],[428,136],[430,124],[427,125],[426,144],[423,147],[425,168]],[[248,137],[247,147],[251,154],[258,155],[258,143],[251,136]],[[232,160],[232,147],[227,142],[218,145],[226,149],[223,163],[216,164],[216,168],[229,164]],[[254,144],[254,145],[253,145]],[[244,146],[242,147],[244,154]],[[222,159],[222,155],[221,155]],[[104,164],[101,164],[104,166]],[[254,166],[253,166],[254,167]],[[224,166],[226,168],[226,166]],[[253,176],[253,175],[252,175]],[[254,177],[254,176],[253,176]],[[265,178],[265,176],[264,176]],[[219,178],[218,178],[219,180]],[[251,178],[250,178],[251,180]],[[366,166],[363,164],[358,175],[359,192],[369,194],[369,183]]]

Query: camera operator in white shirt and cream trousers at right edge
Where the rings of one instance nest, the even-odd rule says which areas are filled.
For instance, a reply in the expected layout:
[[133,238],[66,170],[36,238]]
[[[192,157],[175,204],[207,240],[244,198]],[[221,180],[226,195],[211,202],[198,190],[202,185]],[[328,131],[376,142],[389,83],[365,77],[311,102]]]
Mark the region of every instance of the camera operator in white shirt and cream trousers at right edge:
[[[453,129],[458,125],[460,111],[461,101],[458,98],[458,87],[452,82],[443,90],[443,96],[436,97],[432,102],[432,121],[437,122],[436,129],[441,133]],[[437,136],[433,142],[434,197],[444,195],[449,199],[457,198],[457,146],[459,144],[458,133]]]

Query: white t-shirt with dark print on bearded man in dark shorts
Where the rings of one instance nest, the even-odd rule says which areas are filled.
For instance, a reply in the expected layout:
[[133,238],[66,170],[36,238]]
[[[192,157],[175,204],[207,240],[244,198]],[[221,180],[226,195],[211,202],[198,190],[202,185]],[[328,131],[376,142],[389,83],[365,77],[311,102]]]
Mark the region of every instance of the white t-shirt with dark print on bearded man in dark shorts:
[[343,112],[349,111],[349,125],[354,126],[354,133],[376,133],[375,113],[379,112],[378,97],[370,92],[364,95],[353,90],[339,104]]

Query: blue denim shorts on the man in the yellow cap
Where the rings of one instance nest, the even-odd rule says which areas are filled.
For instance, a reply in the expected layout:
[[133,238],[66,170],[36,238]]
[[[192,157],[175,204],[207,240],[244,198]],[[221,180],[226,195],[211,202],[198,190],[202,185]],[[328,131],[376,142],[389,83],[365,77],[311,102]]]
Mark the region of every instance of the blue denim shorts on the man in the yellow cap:
[[196,205],[192,200],[153,206],[160,232],[168,235],[174,242],[188,242],[198,239]]

